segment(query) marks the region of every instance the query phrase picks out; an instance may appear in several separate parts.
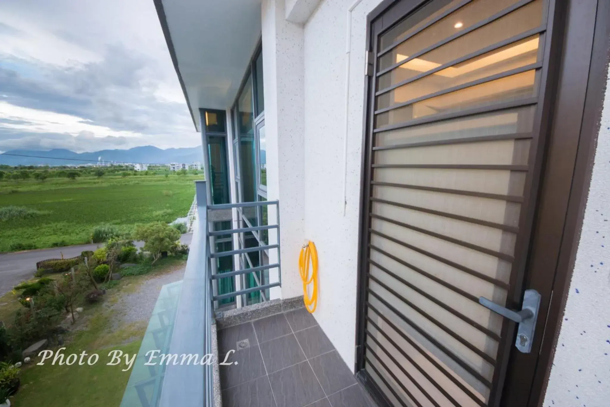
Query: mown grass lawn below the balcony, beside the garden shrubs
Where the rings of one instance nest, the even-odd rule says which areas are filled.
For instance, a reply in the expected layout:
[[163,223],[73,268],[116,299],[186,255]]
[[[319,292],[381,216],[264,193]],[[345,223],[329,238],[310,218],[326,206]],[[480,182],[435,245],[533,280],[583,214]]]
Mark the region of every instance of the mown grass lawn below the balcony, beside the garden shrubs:
[[[37,366],[35,362],[40,358],[33,359],[21,370],[21,388],[11,398],[12,405],[118,407],[131,370],[122,372],[125,366],[107,366],[108,353],[122,350],[130,355],[137,354],[148,320],[116,326],[119,317],[110,305],[117,303],[121,296],[135,292],[143,281],[183,268],[185,263],[180,259],[161,259],[148,275],[121,279],[117,287],[107,292],[102,303],[85,305],[82,317],[72,328],[73,334],[66,337],[63,353],[80,355],[84,350],[87,355],[97,353],[99,361],[93,366],[79,366],[78,363],[53,366],[47,360],[44,366]],[[0,297],[0,302],[5,302],[5,297],[7,295]]]

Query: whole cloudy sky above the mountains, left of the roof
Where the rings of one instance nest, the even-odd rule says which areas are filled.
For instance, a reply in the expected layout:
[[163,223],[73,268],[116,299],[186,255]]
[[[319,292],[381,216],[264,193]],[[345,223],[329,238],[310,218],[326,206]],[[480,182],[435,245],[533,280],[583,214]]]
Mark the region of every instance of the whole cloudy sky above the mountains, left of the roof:
[[152,0],[0,1],[0,151],[199,144]]

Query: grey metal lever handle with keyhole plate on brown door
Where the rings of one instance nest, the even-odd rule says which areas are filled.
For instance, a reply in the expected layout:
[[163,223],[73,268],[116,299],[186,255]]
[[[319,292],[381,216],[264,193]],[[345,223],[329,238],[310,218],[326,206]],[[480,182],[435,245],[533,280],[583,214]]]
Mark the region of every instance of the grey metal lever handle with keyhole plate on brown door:
[[536,290],[525,290],[525,295],[523,295],[523,309],[521,311],[513,311],[512,309],[498,305],[485,297],[479,297],[479,303],[485,308],[489,308],[493,312],[519,323],[515,346],[523,353],[529,353],[531,351],[538,309],[540,307],[540,294],[538,294]]

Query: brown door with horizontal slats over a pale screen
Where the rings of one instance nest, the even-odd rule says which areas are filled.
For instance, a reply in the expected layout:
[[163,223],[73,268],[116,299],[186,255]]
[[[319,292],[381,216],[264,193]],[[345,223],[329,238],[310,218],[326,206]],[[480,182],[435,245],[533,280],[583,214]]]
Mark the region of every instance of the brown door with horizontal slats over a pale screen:
[[522,296],[549,15],[403,0],[371,22],[357,363],[392,406],[499,403],[514,324],[479,297]]

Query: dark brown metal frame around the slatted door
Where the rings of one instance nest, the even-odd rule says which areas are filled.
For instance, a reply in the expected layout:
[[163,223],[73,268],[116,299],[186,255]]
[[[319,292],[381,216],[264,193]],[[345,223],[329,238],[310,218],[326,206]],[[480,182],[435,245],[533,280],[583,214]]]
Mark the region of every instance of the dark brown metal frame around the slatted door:
[[[384,0],[367,17],[367,51],[376,54],[376,44],[371,41],[372,32],[385,29],[400,20],[406,13],[415,9],[425,1],[397,1]],[[553,2],[554,3],[554,2]],[[545,273],[521,273],[517,279],[523,279],[525,287],[536,288],[546,280],[546,293],[543,294],[541,314],[538,319],[537,337],[534,349],[539,352],[539,358],[526,358],[518,352],[511,352],[506,370],[506,378],[495,378],[497,381],[506,381],[506,386],[499,394],[492,395],[490,405],[501,406],[539,406],[544,401],[544,391],[550,373],[554,348],[561,326],[561,318],[567,298],[570,277],[572,275],[576,248],[580,238],[580,229],[584,214],[584,205],[590,182],[590,171],[595,152],[595,140],[600,126],[600,112],[603,104],[606,68],[608,67],[608,49],[610,40],[609,16],[610,2],[597,0],[557,0],[558,7],[554,15],[549,15],[550,23],[557,24],[561,29],[554,30],[553,46],[547,57],[557,61],[558,68],[551,70],[547,82],[548,93],[545,95],[545,112],[541,121],[541,134],[549,133],[552,137],[547,139],[548,145],[540,146],[540,154],[546,154],[546,159],[540,161],[544,169],[544,179],[540,187],[532,185],[537,191],[540,201],[532,212],[536,216],[533,225],[530,255],[527,267],[522,270],[536,270],[543,267]],[[392,13],[386,13],[387,10]],[[382,15],[382,13],[384,13]],[[381,15],[381,18],[379,16]],[[375,26],[373,26],[375,24]],[[373,29],[375,28],[375,29]],[[375,73],[373,73],[373,78]],[[544,83],[544,82],[543,82]],[[555,85],[557,88],[555,88]],[[362,145],[361,168],[361,209],[359,230],[359,259],[358,259],[358,300],[357,300],[357,332],[356,332],[356,372],[361,380],[367,382],[371,391],[382,398],[375,386],[370,386],[370,380],[364,370],[364,336],[365,336],[365,310],[367,275],[365,266],[367,262],[368,227],[365,225],[365,215],[368,213],[370,196],[370,157],[365,154],[370,148],[367,133],[372,129],[372,117],[368,109],[373,102],[373,80],[365,81],[365,110]],[[545,92],[546,93],[546,92]],[[555,100],[555,103],[550,101]],[[545,118],[546,116],[546,118]],[[551,118],[553,120],[551,121]],[[552,124],[551,124],[552,123]],[[545,128],[550,124],[548,128]],[[578,137],[575,137],[578,134]],[[572,182],[565,182],[566,179]],[[535,196],[533,197],[535,199]],[[564,222],[557,222],[563,219]],[[530,223],[531,225],[531,223]],[[539,231],[556,229],[559,236],[552,242],[540,239]],[[555,267],[545,264],[548,255],[554,254],[557,259]],[[548,278],[553,284],[549,286]],[[515,283],[519,283],[515,281]],[[512,285],[512,284],[511,284]],[[522,284],[516,284],[521,286]],[[519,303],[519,294],[512,293],[510,301]],[[546,294],[546,296],[545,296]],[[505,326],[510,331],[514,327]],[[538,332],[544,334],[538,334]],[[508,336],[512,340],[514,332]],[[503,334],[503,337],[504,336]],[[534,360],[535,359],[535,360]],[[534,361],[534,362],[533,362]],[[364,373],[364,374],[363,374]],[[525,373],[525,374],[524,374]],[[384,400],[378,400],[384,402]],[[386,402],[387,403],[387,402]]]

